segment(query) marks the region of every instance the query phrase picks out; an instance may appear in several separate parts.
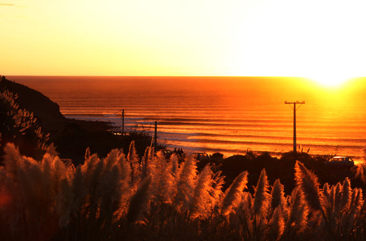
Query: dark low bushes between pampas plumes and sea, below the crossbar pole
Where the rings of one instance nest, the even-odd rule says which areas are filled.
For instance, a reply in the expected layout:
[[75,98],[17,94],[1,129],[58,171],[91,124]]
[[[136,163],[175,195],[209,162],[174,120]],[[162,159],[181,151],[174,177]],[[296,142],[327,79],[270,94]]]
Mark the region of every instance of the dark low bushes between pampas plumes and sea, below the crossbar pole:
[[[307,153],[297,153],[297,160],[304,163],[306,168],[312,170],[319,177],[319,183],[329,183],[335,185],[343,181],[346,177],[350,178],[352,186],[362,187],[362,183],[358,179],[354,179],[356,175],[356,166],[352,168],[330,168],[326,164],[327,157],[312,157]],[[295,187],[294,167],[295,160],[293,152],[286,152],[280,158],[271,157],[268,152],[255,154],[248,151],[245,155],[233,155],[231,157],[220,157],[220,153],[212,154],[206,158],[198,160],[198,170],[206,164],[211,165],[213,170],[220,170],[226,176],[224,187],[228,187],[232,181],[242,172],[247,170],[251,175],[248,177],[248,189],[253,192],[255,183],[258,181],[260,172],[266,169],[268,181],[273,183],[276,179],[280,179],[284,185],[286,194],[290,194]]]

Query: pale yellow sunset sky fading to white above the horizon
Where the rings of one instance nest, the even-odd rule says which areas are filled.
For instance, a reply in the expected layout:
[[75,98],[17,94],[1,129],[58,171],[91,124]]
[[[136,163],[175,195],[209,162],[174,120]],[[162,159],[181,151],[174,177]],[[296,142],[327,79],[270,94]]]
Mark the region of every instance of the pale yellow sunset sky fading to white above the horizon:
[[0,0],[0,74],[366,76],[365,1]]

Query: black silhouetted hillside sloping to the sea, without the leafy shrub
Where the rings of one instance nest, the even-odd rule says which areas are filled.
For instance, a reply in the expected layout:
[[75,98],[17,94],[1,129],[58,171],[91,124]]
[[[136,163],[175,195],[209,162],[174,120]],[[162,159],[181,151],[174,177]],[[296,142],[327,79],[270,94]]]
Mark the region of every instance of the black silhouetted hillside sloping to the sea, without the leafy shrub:
[[[126,137],[113,135],[108,131],[111,128],[108,122],[67,119],[60,113],[60,106],[49,100],[47,96],[23,84],[1,77],[0,91],[3,93],[5,90],[17,95],[14,101],[19,105],[19,109],[34,113],[38,126],[41,126],[43,133],[49,133],[49,144],[54,143],[61,158],[73,159],[76,163],[81,163],[84,161],[84,152],[88,147],[91,152],[105,157],[114,148],[123,148],[128,151],[132,140],[135,140],[137,152],[141,156],[146,146],[150,145],[150,137],[139,133],[130,133]],[[1,122],[3,121],[1,119]],[[15,142],[16,146],[19,146],[12,139],[10,142]]]

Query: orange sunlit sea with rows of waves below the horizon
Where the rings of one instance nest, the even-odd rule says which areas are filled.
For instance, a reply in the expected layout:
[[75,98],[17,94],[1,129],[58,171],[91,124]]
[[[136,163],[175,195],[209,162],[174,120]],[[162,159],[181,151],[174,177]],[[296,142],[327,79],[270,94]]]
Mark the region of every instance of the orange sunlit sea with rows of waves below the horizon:
[[302,78],[7,76],[47,95],[66,117],[111,121],[152,133],[168,148],[244,154],[293,149],[351,155],[366,148],[366,78],[341,89]]

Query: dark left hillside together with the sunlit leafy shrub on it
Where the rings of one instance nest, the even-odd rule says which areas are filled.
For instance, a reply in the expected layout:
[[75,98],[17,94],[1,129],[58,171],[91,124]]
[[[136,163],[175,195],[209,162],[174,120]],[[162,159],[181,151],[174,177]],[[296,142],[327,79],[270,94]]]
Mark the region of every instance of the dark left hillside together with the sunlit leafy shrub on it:
[[105,157],[114,148],[127,151],[133,140],[140,155],[150,146],[151,137],[142,132],[122,137],[108,131],[111,128],[108,122],[67,119],[58,104],[48,97],[5,77],[1,78],[0,91],[0,144],[14,143],[21,154],[29,157],[40,159],[48,146],[54,144],[60,158],[78,164],[84,161],[84,150],[88,147]]

